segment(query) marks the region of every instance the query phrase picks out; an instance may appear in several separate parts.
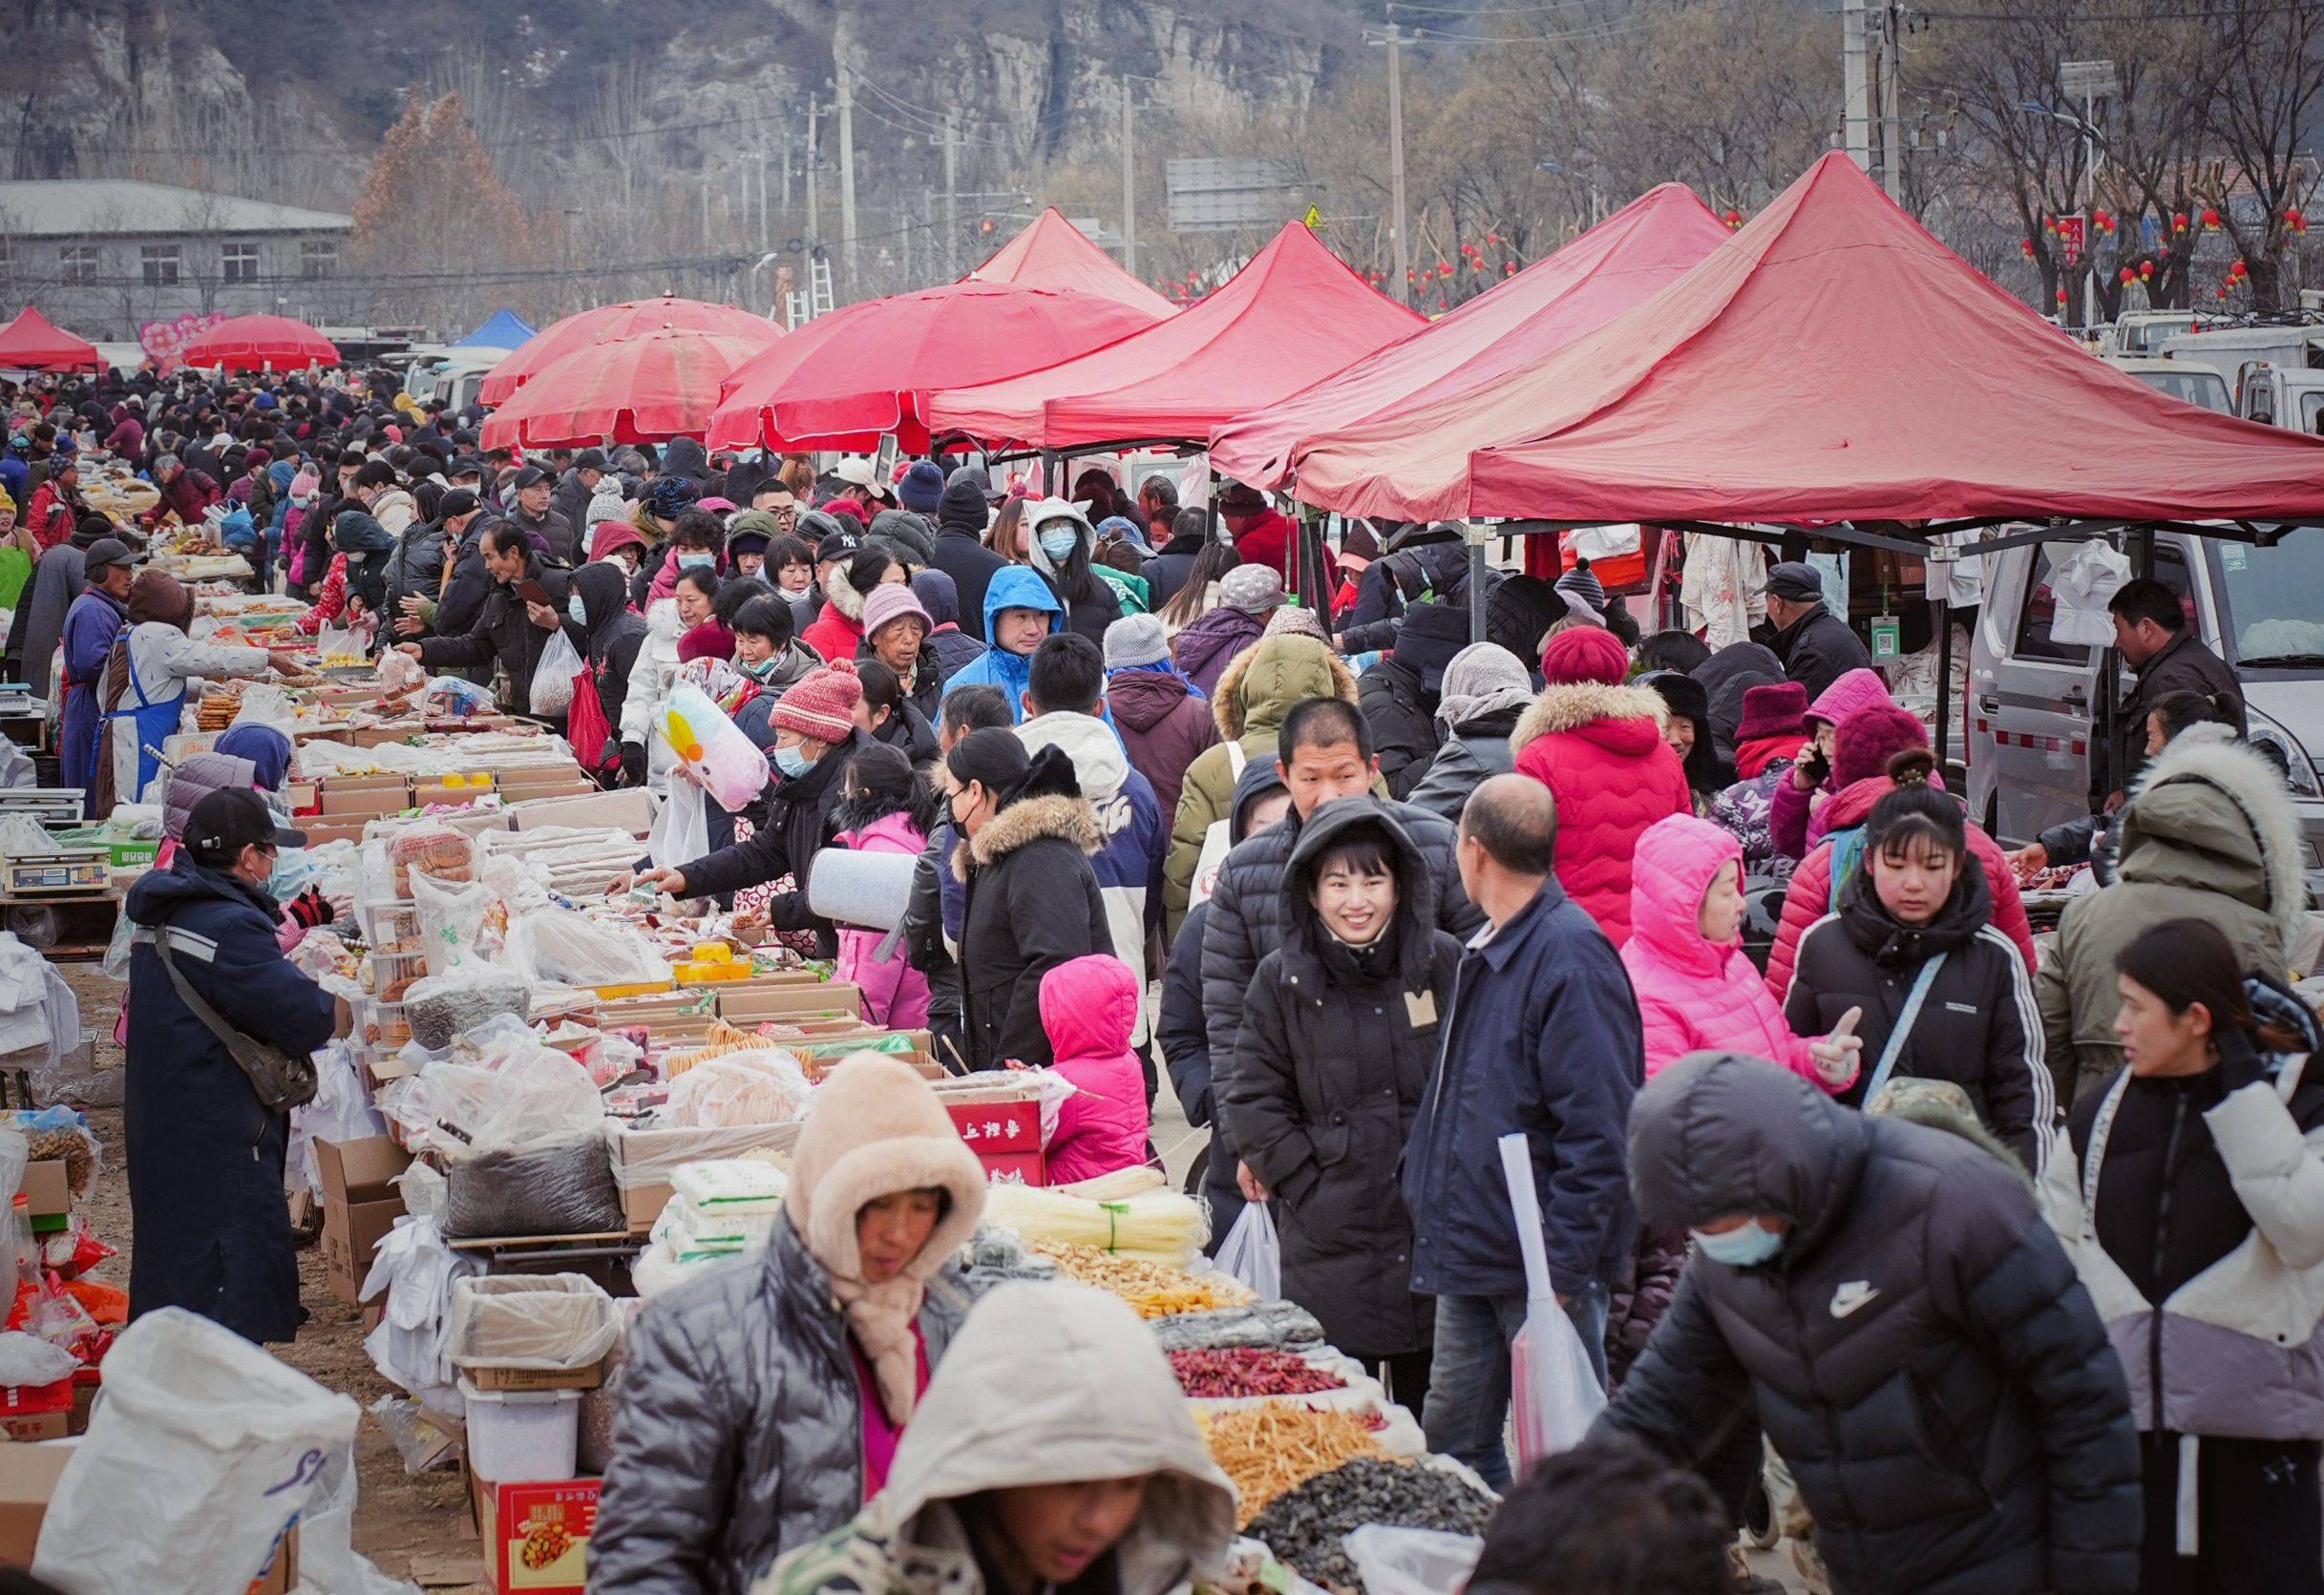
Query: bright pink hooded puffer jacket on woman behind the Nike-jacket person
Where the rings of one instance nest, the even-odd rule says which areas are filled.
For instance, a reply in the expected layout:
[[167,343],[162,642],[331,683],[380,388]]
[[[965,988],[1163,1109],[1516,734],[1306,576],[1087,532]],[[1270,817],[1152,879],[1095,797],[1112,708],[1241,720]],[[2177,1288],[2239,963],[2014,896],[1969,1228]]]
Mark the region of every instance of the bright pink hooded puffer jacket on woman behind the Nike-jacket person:
[[1629,885],[1629,940],[1622,966],[1638,994],[1645,1073],[1690,1052],[1748,1052],[1771,1059],[1824,1091],[1808,1042],[1792,1035],[1741,943],[1703,940],[1703,894],[1743,845],[1694,815],[1671,815],[1638,838]]

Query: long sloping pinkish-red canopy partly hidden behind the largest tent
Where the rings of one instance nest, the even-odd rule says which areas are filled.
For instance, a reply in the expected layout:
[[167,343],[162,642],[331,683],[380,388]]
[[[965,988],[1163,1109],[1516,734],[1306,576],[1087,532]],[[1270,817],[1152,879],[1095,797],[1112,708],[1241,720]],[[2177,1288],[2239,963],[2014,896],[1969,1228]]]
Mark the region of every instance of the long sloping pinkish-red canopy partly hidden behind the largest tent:
[[[1727,237],[1692,188],[1662,183],[1427,330],[1283,404],[1236,416],[1211,434],[1211,464],[1253,488],[1297,478],[1301,499],[1341,508],[1306,481],[1308,448],[1343,427],[1387,425],[1418,406],[1490,390],[1678,279]],[[1429,453],[1443,448],[1441,434],[1420,441]]]

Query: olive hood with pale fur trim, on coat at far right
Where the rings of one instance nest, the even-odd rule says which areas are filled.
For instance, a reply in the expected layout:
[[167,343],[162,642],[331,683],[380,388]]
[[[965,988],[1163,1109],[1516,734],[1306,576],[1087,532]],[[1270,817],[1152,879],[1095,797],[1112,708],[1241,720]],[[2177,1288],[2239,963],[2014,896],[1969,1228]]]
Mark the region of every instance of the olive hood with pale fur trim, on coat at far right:
[[2250,745],[2178,734],[2122,806],[2117,875],[2217,892],[2266,912],[2291,952],[2308,908],[2301,824],[2284,778]]

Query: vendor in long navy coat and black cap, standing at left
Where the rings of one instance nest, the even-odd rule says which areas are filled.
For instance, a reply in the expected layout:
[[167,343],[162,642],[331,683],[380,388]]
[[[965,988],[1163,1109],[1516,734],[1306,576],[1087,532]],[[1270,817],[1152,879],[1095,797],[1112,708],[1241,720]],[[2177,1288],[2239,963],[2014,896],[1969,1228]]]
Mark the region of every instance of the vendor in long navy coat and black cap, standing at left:
[[211,792],[188,813],[172,868],[146,871],[121,905],[137,926],[123,1089],[130,1319],[184,1307],[260,1344],[297,1333],[290,1119],[260,1100],[209,1019],[288,1054],[342,1029],[337,998],[284,957],[267,896],[277,847],[302,840],[256,792]]

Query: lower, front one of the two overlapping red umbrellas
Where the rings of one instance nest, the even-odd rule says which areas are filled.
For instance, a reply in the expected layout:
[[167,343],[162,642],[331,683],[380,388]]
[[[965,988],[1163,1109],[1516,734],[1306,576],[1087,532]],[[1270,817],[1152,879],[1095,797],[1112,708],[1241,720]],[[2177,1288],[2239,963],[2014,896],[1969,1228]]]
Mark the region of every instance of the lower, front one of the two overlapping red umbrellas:
[[486,448],[586,448],[702,436],[718,385],[760,353],[755,337],[655,327],[541,367],[483,420]]

